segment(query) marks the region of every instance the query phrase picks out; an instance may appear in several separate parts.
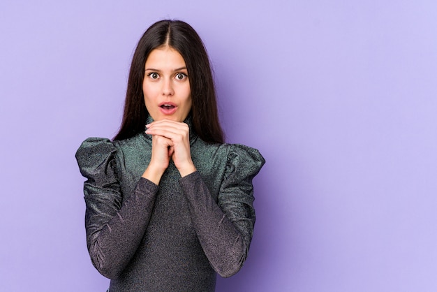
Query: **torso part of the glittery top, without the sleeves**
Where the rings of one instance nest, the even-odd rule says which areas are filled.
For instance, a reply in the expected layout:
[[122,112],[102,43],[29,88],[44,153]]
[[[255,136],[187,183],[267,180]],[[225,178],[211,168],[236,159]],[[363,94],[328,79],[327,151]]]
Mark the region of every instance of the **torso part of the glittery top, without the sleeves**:
[[[125,200],[147,168],[151,143],[141,133],[114,145],[117,177]],[[226,145],[210,145],[200,138],[191,140],[193,163],[216,201],[228,151]],[[195,234],[179,178],[177,168],[170,161],[138,251],[121,277],[111,281],[110,291],[143,291],[144,287],[150,291],[214,291],[216,273]]]

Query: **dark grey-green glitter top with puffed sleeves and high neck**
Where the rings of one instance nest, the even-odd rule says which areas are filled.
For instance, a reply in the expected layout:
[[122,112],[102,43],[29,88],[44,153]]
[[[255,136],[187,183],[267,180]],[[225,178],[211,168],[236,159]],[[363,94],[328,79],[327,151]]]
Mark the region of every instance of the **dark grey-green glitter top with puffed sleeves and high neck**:
[[181,178],[170,161],[159,185],[141,177],[151,157],[145,133],[88,138],[77,150],[87,247],[109,291],[214,291],[216,272],[242,267],[255,223],[252,179],[265,161],[193,132],[190,143],[197,171]]

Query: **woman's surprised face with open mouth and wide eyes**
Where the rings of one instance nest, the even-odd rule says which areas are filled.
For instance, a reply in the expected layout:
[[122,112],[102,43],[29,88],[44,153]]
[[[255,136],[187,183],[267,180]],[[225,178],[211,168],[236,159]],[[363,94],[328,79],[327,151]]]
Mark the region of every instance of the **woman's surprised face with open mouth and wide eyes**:
[[186,119],[191,110],[191,89],[186,64],[179,52],[169,47],[150,52],[142,92],[154,121]]

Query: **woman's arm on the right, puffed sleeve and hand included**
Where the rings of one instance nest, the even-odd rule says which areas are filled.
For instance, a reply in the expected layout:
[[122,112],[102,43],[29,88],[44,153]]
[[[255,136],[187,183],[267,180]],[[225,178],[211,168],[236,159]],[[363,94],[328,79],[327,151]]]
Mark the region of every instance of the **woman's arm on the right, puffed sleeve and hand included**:
[[[230,145],[217,204],[191,160],[188,126],[162,120],[148,124],[146,133],[165,140],[165,155],[161,156],[171,156],[182,176],[179,184],[188,199],[193,226],[209,263],[222,277],[234,275],[249,250],[255,223],[252,178],[264,159],[256,149]],[[167,160],[161,161],[166,167]]]

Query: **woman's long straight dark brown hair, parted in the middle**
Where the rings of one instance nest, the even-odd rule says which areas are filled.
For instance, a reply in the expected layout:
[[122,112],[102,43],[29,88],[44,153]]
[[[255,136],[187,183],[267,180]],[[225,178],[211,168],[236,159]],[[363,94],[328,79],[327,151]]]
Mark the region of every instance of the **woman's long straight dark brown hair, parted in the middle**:
[[149,112],[142,93],[145,63],[152,50],[168,45],[184,58],[191,88],[193,129],[207,143],[223,143],[223,130],[218,122],[216,90],[205,45],[186,22],[161,20],[147,29],[133,54],[128,78],[124,114],[114,140],[131,138],[145,131]]

